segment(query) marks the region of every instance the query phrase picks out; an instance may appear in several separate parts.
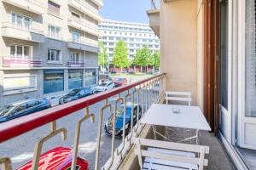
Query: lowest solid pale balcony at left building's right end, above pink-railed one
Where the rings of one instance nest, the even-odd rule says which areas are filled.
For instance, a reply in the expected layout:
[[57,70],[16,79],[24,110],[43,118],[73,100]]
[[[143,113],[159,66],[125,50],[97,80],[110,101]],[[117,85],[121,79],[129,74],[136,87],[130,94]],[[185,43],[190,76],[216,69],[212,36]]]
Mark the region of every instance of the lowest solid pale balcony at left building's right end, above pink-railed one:
[[71,39],[67,42],[67,48],[79,49],[83,51],[90,51],[92,53],[98,53],[99,48],[96,43],[84,42],[81,40],[73,40]]

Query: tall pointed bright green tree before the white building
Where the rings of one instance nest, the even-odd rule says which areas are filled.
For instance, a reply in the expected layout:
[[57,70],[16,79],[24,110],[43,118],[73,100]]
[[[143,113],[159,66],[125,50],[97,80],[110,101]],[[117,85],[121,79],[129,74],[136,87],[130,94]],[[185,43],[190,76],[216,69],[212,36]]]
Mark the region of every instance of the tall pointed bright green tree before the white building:
[[128,59],[127,45],[122,40],[117,42],[116,48],[114,48],[113,65],[116,67],[119,67],[121,71],[123,71],[123,68],[127,68],[130,66],[130,60]]

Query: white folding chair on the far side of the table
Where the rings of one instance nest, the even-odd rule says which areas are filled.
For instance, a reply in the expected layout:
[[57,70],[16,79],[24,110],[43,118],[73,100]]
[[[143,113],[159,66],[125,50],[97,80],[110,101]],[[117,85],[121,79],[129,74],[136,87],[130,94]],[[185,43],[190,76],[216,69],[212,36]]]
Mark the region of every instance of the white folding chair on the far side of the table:
[[[192,99],[191,99],[191,92],[174,92],[174,91],[166,91],[166,105],[169,104],[169,101],[176,101],[183,103],[185,105],[191,105]],[[177,128],[179,130],[180,128]],[[171,127],[166,127],[166,137],[168,139],[174,139],[172,138],[172,133],[175,131]],[[191,130],[186,130],[185,132],[189,133],[189,137],[191,137]],[[191,139],[190,139],[191,143]]]

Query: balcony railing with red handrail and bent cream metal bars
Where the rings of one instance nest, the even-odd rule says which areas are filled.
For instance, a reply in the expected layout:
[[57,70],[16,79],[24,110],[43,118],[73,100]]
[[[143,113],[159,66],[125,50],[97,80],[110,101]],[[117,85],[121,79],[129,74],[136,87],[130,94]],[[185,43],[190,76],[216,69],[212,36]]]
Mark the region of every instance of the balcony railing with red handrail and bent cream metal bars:
[[[115,120],[117,116],[117,111],[120,105],[126,105],[128,102],[131,101],[132,107],[135,105],[139,105],[142,109],[141,116],[148,110],[149,106],[153,103],[159,103],[160,99],[164,96],[164,75],[160,74],[154,77],[149,77],[143,79],[138,82],[133,82],[131,84],[113,88],[112,90],[108,90],[101,94],[94,94],[90,95],[89,97],[74,100],[69,102],[65,105],[58,105],[54,108],[50,108],[48,110],[39,111],[37,113],[33,113],[31,115],[22,116],[15,120],[9,122],[0,123],[0,144],[9,140],[13,139],[21,134],[27,133],[37,127],[42,127],[45,124],[50,123],[51,125],[51,132],[44,136],[43,139],[39,139],[33,155],[33,165],[34,169],[38,167],[38,156],[41,154],[42,144],[44,143],[45,139],[51,138],[51,136],[55,135],[56,133],[62,133],[64,136],[67,136],[67,129],[65,127],[61,127],[56,129],[56,121],[61,119],[64,116],[75,114],[76,111],[80,111],[82,109],[85,110],[85,116],[77,122],[76,131],[75,131],[75,140],[74,140],[74,147],[73,147],[73,161],[72,165],[75,169],[75,162],[76,156],[79,152],[79,133],[80,133],[80,124],[84,122],[85,119],[95,117],[95,114],[89,114],[89,106],[95,105],[98,102],[105,101],[102,103],[102,107],[100,107],[99,114],[97,115],[97,133],[96,133],[96,160],[90,161],[90,164],[95,165],[95,169],[99,169],[99,167],[104,167],[105,169],[109,169],[110,167],[113,169],[117,169],[119,163],[125,158],[125,154],[128,150],[131,149],[133,144],[133,140],[137,137],[143,129],[143,125],[139,123],[139,111],[131,111],[131,117],[137,117],[137,123],[133,123],[133,118],[131,118],[131,127],[129,129],[125,129],[122,132],[122,140],[121,144],[118,147],[115,146]],[[115,98],[117,97],[117,98]],[[108,102],[108,99],[113,99],[113,103]],[[111,109],[113,108],[113,109]],[[112,145],[108,150],[111,152],[111,156],[109,157],[108,161],[105,160],[105,164],[102,165],[102,160],[100,162],[101,157],[101,150],[102,150],[102,116],[106,114],[106,111],[113,111],[113,122],[112,122]],[[125,115],[126,110],[124,110],[124,120],[125,122]],[[136,114],[136,115],[135,115]],[[71,120],[72,121],[72,120]],[[125,127],[126,125],[123,125]],[[126,128],[126,127],[125,127]],[[68,129],[69,130],[69,129]],[[129,132],[128,135],[125,137],[125,131]],[[116,157],[119,157],[116,159]],[[1,159],[0,156],[0,164],[1,160],[3,163],[7,163],[10,161],[9,157],[3,157]],[[104,161],[103,161],[104,162]]]

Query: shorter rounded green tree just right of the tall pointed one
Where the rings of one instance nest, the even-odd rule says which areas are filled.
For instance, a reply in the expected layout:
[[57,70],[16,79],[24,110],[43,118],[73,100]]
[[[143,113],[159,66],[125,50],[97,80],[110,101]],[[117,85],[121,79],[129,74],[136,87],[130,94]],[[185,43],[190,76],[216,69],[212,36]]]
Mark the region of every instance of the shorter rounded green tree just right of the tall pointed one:
[[150,55],[150,49],[148,47],[137,49],[137,53],[133,59],[133,65],[140,66],[142,71],[144,66],[148,66]]

